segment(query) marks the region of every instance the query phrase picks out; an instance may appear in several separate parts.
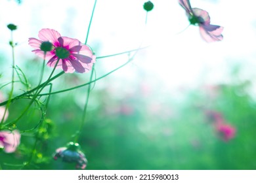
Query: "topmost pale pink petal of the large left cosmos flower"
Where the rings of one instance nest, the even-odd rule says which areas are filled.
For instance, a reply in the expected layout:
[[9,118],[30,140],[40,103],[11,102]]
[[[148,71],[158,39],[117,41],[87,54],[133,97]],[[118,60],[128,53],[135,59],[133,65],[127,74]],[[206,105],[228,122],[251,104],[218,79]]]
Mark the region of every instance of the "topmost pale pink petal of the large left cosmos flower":
[[50,41],[54,43],[54,42],[58,42],[60,33],[58,33],[58,31],[55,31],[53,29],[41,29],[41,31],[39,31],[38,37],[42,41]]

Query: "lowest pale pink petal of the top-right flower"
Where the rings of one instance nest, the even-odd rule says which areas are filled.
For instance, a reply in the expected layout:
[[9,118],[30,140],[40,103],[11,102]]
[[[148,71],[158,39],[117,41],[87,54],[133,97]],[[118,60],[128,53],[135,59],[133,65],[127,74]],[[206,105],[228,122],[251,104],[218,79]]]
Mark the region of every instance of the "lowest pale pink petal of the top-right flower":
[[200,26],[200,34],[206,42],[222,41],[221,35],[223,27],[219,25],[205,25]]

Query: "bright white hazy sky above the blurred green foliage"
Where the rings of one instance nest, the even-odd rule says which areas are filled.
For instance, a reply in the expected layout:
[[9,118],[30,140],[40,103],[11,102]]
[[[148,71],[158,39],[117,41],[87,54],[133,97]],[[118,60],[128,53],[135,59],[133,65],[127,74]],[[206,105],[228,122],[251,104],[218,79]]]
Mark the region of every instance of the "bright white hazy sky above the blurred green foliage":
[[[227,68],[232,63],[242,63],[247,68],[243,73],[245,78],[255,76],[256,14],[252,1],[191,0],[192,7],[209,12],[212,24],[224,27],[224,40],[209,44],[201,39],[196,26],[177,35],[188,25],[188,20],[176,0],[152,1],[155,7],[148,13],[145,29],[144,2],[97,1],[87,42],[95,48],[97,56],[135,49],[142,37],[143,45],[151,46],[116,76],[136,79],[133,69],[139,68],[163,80],[167,87],[193,86],[198,82],[226,82]],[[93,0],[23,0],[22,5],[14,0],[0,1],[0,49],[10,58],[9,65],[2,68],[11,65],[7,24],[18,25],[14,39],[22,44],[16,48],[16,57],[33,58],[28,38],[37,37],[42,28],[56,29],[63,36],[84,42],[93,4]],[[98,65],[111,70],[125,62],[125,58],[100,59]],[[21,62],[18,60],[17,65],[22,65]]]

